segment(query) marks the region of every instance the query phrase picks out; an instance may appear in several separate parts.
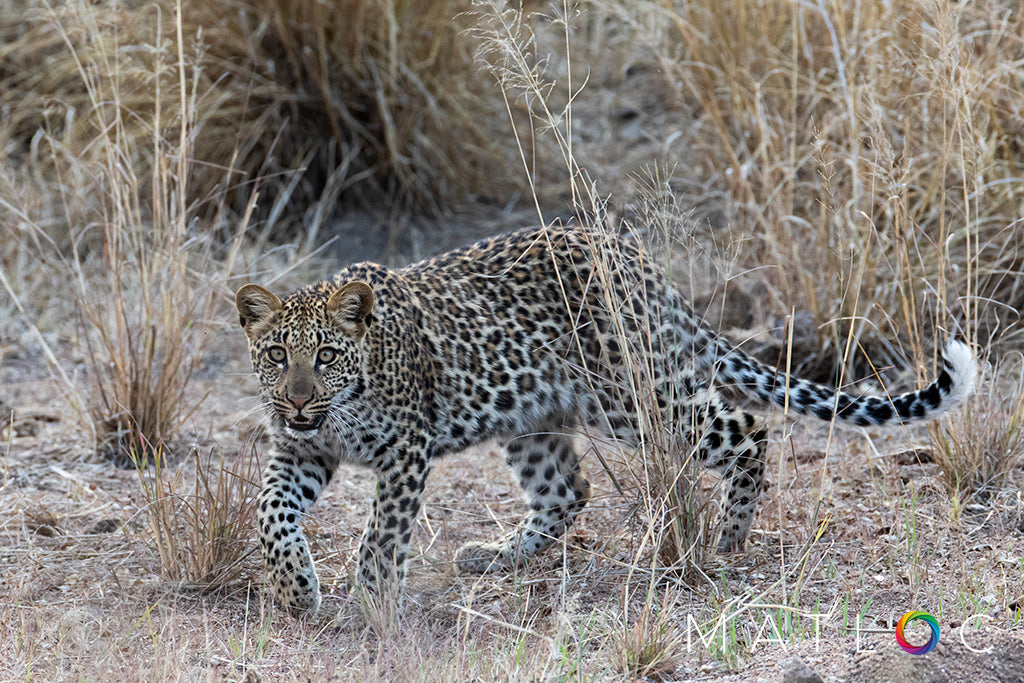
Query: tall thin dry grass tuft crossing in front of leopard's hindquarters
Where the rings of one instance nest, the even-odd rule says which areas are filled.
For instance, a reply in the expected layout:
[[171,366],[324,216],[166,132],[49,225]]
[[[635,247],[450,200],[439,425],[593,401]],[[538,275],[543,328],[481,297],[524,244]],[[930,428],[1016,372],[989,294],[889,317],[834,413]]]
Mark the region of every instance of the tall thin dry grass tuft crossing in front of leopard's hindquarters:
[[[592,276],[595,282],[582,283],[581,286],[584,290],[595,289],[603,294],[603,298],[594,305],[601,309],[602,315],[607,316],[622,360],[615,368],[579,370],[588,381],[602,383],[603,389],[616,393],[616,404],[632,405],[637,413],[639,444],[636,457],[628,459],[623,469],[630,485],[639,488],[642,494],[642,503],[636,508],[637,518],[644,528],[639,552],[650,554],[654,568],[668,567],[687,579],[702,575],[700,567],[713,545],[714,529],[709,523],[709,499],[699,486],[698,464],[693,457],[695,446],[682,437],[692,426],[672,424],[658,407],[662,400],[675,404],[690,397],[665,395],[666,388],[659,386],[655,378],[673,372],[652,365],[655,359],[649,348],[653,321],[646,321],[644,329],[631,330],[631,322],[638,317],[632,310],[633,300],[630,296],[616,294],[644,292],[638,282],[630,280],[629,273],[635,272],[635,268],[623,267],[616,242],[628,239],[649,242],[643,236],[656,230],[652,225],[618,226],[605,220],[607,203],[601,199],[596,184],[573,154],[571,78],[565,84],[567,93],[554,93],[555,84],[545,73],[545,59],[539,56],[536,36],[529,29],[524,11],[501,2],[480,2],[477,11],[480,16],[481,58],[502,88],[506,101],[528,101],[535,127],[554,140],[562,157],[562,173],[570,190],[577,219],[589,228],[582,236],[590,241],[589,255],[594,263]],[[568,15],[564,12],[559,14],[555,25],[565,32],[568,45]],[[570,55],[566,57],[571,58]],[[556,104],[559,100],[565,104]],[[532,139],[520,137],[516,129],[513,131],[522,155],[523,170],[531,186],[537,187],[538,178],[530,164]],[[539,193],[535,194],[535,200],[539,213],[542,213]],[[682,221],[677,220],[678,215],[671,215],[670,208],[657,206],[646,213],[660,211],[665,233],[658,237],[672,240],[677,237],[672,233],[673,230],[678,229]],[[540,217],[544,219],[543,215]],[[620,234],[621,229],[630,231],[632,228],[635,228],[634,236]],[[564,273],[562,276],[572,275]],[[566,305],[571,306],[569,303]],[[660,303],[646,301],[645,305],[656,311]],[[574,310],[570,312],[577,314]],[[641,327],[643,325],[641,323]],[[598,453],[609,445],[601,435],[588,434],[588,437],[594,441]],[[616,447],[621,444],[612,442],[610,445]],[[601,462],[607,467],[607,461],[602,458]],[[612,478],[616,479],[614,473]],[[639,555],[637,561],[640,561]]]

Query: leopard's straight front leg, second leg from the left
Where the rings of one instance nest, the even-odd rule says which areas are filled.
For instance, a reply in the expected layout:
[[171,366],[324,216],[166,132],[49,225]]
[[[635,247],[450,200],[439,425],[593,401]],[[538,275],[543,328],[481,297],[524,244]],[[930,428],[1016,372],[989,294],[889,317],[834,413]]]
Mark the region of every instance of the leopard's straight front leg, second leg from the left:
[[359,544],[356,583],[373,593],[397,588],[406,575],[413,525],[430,471],[426,451],[397,447],[377,469],[377,498]]

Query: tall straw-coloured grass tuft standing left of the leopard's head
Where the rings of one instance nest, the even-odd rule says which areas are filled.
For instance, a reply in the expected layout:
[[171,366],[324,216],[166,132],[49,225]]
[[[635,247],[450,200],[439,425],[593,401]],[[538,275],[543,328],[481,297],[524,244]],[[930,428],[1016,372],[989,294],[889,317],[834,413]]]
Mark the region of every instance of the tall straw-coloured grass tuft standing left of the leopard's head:
[[190,199],[206,56],[186,44],[180,13],[158,12],[151,28],[159,35],[166,20],[174,40],[143,49],[122,43],[100,9],[70,2],[37,10],[54,41],[50,61],[74,70],[45,82],[58,83],[67,98],[47,102],[33,134],[33,163],[52,173],[37,176],[38,195],[8,207],[18,219],[12,244],[75,300],[83,408],[97,445],[128,462],[166,451],[202,400],[189,382],[249,214],[224,244],[203,230],[230,224],[224,196],[210,204],[209,223]]

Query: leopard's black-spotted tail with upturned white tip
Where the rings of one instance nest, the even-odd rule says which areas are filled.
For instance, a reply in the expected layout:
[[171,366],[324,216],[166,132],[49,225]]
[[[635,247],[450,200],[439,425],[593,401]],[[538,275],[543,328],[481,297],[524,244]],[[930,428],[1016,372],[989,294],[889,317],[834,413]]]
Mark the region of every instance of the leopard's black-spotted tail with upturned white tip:
[[[717,383],[735,386],[768,404],[786,402],[784,373],[729,349],[716,365]],[[950,341],[942,353],[942,372],[918,391],[897,396],[854,396],[822,384],[790,378],[790,410],[821,420],[833,418],[855,425],[893,425],[936,418],[961,403],[974,391],[977,364],[971,348]]]

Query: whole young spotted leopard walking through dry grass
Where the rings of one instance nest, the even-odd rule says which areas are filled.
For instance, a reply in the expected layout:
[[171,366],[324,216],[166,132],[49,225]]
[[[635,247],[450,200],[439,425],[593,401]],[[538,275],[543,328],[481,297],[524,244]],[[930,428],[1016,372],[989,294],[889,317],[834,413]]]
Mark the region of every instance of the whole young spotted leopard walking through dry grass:
[[732,553],[757,513],[768,439],[737,398],[885,426],[937,418],[973,390],[974,353],[955,340],[935,379],[900,395],[792,377],[696,314],[643,242],[549,224],[401,268],[355,263],[284,298],[239,289],[269,437],[256,525],[274,599],[321,609],[301,522],[342,463],[377,479],[355,588],[400,595],[427,477],[447,454],[496,440],[529,510],[499,540],[462,546],[459,571],[512,570],[560,539],[591,497],[580,431],[637,449],[651,412],[721,474],[717,549]]

